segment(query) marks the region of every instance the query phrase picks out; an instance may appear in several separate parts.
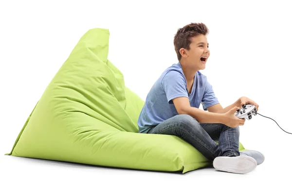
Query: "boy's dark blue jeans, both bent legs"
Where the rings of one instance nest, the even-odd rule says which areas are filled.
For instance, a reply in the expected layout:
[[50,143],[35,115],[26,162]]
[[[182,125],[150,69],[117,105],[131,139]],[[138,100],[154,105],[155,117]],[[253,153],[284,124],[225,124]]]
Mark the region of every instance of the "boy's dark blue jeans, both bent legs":
[[178,136],[212,161],[218,156],[240,155],[239,127],[230,128],[219,123],[199,123],[188,114],[169,118],[150,128],[147,133]]

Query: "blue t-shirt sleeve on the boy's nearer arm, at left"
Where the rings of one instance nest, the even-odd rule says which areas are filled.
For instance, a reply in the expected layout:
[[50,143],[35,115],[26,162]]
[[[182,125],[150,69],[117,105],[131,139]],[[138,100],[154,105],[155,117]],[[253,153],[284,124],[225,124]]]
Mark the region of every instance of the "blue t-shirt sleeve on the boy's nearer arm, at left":
[[168,71],[164,75],[161,85],[164,89],[169,104],[173,104],[172,99],[176,97],[188,97],[185,79],[178,71]]

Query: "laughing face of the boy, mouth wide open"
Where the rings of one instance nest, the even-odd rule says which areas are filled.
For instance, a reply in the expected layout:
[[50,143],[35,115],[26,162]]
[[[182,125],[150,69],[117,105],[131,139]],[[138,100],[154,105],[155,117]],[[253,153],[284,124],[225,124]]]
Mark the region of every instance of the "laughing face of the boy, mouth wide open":
[[206,35],[199,34],[191,38],[190,49],[185,51],[185,61],[189,67],[202,70],[210,56],[209,43]]

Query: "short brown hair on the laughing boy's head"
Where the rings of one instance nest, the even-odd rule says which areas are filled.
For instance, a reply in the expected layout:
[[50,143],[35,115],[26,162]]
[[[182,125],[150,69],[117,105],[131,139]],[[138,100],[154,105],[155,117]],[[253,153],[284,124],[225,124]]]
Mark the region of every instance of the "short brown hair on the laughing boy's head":
[[183,28],[179,28],[178,32],[174,36],[173,44],[174,49],[177,53],[178,60],[180,61],[182,55],[180,49],[184,48],[189,50],[191,44],[191,38],[203,34],[206,35],[209,33],[207,26],[203,23],[190,23],[185,25]]

